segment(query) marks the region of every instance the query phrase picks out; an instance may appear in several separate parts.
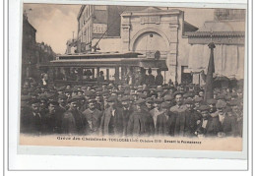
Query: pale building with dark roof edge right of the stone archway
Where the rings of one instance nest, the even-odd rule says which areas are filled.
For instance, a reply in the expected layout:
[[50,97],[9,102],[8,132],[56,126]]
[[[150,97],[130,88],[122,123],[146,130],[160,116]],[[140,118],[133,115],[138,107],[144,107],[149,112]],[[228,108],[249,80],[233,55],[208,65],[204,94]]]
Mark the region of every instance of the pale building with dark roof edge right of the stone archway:
[[[188,72],[207,72],[210,58],[208,44],[214,42],[215,77],[243,79],[245,10],[217,9],[213,21],[205,22],[202,28],[186,32],[186,35],[191,45],[188,51]],[[193,82],[204,84],[200,74],[193,75]]]

